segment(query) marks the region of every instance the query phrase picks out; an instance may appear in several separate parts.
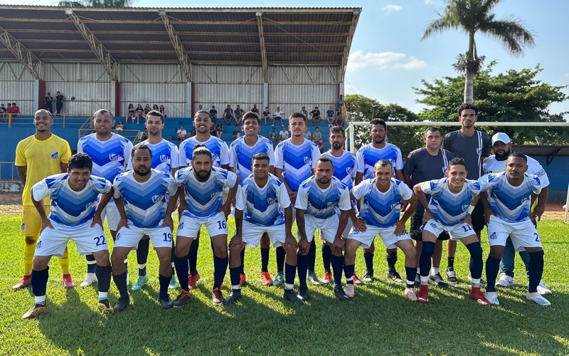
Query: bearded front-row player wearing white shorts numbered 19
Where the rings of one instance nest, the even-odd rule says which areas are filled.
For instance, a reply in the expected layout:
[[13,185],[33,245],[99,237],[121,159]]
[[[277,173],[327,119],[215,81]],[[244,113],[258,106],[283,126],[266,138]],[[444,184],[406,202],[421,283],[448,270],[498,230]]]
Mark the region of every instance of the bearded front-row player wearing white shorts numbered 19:
[[[151,111],[152,112],[152,111]],[[156,120],[156,114],[149,115]],[[176,209],[178,187],[168,173],[151,169],[154,154],[144,143],[134,146],[131,153],[132,171],[119,174],[115,179],[115,204],[120,214],[117,239],[112,250],[112,276],[120,297],[115,311],[121,312],[130,304],[127,289],[127,271],[124,259],[142,236],[149,236],[160,261],[158,300],[163,309],[170,309],[172,300],[168,295],[172,279],[172,221]],[[109,199],[101,198],[100,204]]]

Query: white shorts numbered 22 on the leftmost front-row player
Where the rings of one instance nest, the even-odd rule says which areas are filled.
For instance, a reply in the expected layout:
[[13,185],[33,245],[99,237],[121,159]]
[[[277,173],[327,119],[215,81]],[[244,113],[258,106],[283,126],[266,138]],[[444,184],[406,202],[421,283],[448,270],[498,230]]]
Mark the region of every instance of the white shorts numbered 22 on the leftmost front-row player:
[[68,241],[74,241],[81,256],[98,251],[108,251],[107,239],[101,226],[91,221],[79,226],[65,226],[51,223],[55,229],[46,227],[40,234],[35,256],[63,256]]

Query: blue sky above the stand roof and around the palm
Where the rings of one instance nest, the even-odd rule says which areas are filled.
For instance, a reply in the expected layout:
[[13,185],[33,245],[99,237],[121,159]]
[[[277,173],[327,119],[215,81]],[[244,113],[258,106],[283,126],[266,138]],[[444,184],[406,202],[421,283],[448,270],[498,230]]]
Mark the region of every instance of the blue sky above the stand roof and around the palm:
[[[0,0],[1,1],[1,0]],[[4,2],[4,1],[2,1]],[[5,4],[55,5],[57,1],[14,1]],[[351,46],[349,68],[346,73],[346,93],[358,93],[380,103],[397,103],[420,112],[424,106],[412,87],[420,86],[420,80],[457,75],[452,63],[458,53],[467,50],[467,35],[449,31],[421,41],[422,31],[435,11],[442,10],[442,0],[281,0],[281,1],[174,1],[161,0],[160,6],[353,6],[363,8]],[[156,7],[155,0],[134,1],[137,7]],[[569,1],[564,0],[504,0],[494,13],[501,19],[509,15],[523,21],[535,37],[536,46],[526,49],[521,57],[510,56],[500,43],[482,33],[477,34],[480,55],[486,63],[499,61],[495,73],[509,69],[533,68],[541,64],[539,79],[551,85],[569,85],[569,43],[567,19]],[[558,40],[555,40],[558,38]],[[564,90],[569,93],[568,89]],[[553,104],[551,112],[569,111],[569,100]],[[569,115],[567,116],[569,118]]]

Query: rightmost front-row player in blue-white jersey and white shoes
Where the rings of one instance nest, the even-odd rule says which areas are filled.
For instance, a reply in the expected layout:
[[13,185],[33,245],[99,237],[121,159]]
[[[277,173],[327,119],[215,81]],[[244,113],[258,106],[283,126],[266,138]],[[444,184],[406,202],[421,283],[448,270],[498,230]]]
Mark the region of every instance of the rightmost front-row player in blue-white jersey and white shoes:
[[[488,224],[490,253],[486,259],[486,299],[499,305],[496,295],[496,275],[508,236],[517,251],[525,249],[529,253],[529,286],[526,298],[539,305],[551,305],[538,293],[539,281],[543,274],[543,248],[541,239],[532,220],[537,214],[531,212],[531,204],[541,192],[541,182],[536,176],[526,174],[528,169],[526,155],[511,152],[506,161],[506,172],[486,174],[479,179],[480,194],[484,204],[484,216]],[[543,209],[546,201],[538,201],[536,209]],[[531,217],[530,217],[531,216]]]

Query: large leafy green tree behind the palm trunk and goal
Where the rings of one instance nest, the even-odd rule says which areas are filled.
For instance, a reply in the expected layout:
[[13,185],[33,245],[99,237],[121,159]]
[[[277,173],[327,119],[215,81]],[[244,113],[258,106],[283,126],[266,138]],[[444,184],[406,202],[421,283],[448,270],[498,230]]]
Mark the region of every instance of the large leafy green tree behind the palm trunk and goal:
[[[479,108],[479,121],[495,122],[563,122],[567,112],[553,114],[549,112],[551,103],[568,100],[563,93],[565,86],[554,86],[538,80],[537,75],[543,70],[540,66],[522,70],[508,70],[494,75],[492,69],[496,62],[490,63],[480,71],[474,90],[479,93],[476,105]],[[432,83],[422,80],[422,88],[413,88],[420,95],[418,103],[429,105],[430,109],[421,112],[418,117],[425,121],[457,121],[457,108],[462,104],[459,89],[462,76],[445,77]],[[441,131],[450,132],[456,127],[441,127]],[[506,132],[516,144],[535,143],[539,136],[544,145],[569,143],[569,129],[565,127],[480,127],[489,135]]]

